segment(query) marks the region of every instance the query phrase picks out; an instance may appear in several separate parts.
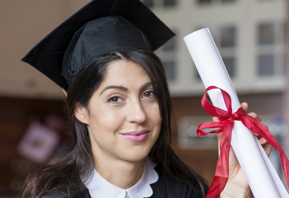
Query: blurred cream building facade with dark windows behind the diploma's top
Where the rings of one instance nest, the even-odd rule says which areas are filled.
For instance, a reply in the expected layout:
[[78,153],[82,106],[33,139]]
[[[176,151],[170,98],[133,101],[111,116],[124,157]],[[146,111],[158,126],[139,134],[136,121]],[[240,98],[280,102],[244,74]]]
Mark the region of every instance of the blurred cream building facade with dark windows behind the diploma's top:
[[183,37],[209,28],[239,94],[284,89],[285,0],[144,0],[177,36],[157,52],[172,96],[195,96],[204,86]]

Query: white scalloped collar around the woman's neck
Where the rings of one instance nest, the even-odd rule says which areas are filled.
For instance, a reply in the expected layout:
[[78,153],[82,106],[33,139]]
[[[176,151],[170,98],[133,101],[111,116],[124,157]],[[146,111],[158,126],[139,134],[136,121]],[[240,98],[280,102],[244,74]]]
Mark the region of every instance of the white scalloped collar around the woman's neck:
[[96,170],[92,175],[92,179],[86,188],[91,198],[144,198],[153,195],[153,189],[150,184],[155,183],[159,179],[158,173],[155,171],[155,163],[146,157],[144,160],[144,172],[140,180],[128,189],[119,188],[106,181]]

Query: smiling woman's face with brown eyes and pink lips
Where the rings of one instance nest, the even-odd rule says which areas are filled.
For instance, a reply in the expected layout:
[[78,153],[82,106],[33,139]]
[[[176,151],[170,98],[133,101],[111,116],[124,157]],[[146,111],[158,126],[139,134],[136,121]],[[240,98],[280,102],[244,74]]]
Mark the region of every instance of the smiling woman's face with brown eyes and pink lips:
[[159,105],[149,76],[136,62],[111,64],[88,109],[76,111],[83,111],[79,120],[88,126],[96,155],[142,160],[159,136]]

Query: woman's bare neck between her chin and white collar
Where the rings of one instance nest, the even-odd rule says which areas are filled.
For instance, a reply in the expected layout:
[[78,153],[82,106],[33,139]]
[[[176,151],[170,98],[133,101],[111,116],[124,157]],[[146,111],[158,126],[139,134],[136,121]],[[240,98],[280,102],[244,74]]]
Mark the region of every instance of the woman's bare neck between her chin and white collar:
[[134,162],[123,160],[103,151],[98,145],[91,146],[95,158],[95,170],[106,181],[119,188],[127,189],[142,177],[144,159]]

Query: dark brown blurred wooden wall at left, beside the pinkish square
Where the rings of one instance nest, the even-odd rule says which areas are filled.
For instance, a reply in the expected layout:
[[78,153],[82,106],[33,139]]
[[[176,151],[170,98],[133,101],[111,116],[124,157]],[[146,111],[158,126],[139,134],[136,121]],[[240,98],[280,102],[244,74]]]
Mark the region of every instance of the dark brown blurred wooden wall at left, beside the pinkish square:
[[[54,113],[64,117],[63,102],[0,98],[0,195],[13,193],[37,164],[21,157],[17,145],[26,131],[29,120]],[[1,197],[1,196],[0,196]]]

